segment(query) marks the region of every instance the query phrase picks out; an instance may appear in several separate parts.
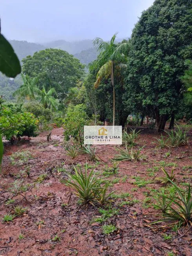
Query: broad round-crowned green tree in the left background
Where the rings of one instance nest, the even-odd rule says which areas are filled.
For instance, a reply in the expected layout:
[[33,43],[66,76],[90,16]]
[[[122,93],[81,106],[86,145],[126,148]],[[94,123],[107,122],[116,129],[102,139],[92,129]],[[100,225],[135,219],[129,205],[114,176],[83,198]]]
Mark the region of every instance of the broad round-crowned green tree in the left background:
[[38,86],[42,89],[54,87],[58,98],[65,98],[70,87],[84,73],[84,65],[71,54],[60,49],[45,49],[27,56],[22,60],[22,71],[31,78],[38,78]]

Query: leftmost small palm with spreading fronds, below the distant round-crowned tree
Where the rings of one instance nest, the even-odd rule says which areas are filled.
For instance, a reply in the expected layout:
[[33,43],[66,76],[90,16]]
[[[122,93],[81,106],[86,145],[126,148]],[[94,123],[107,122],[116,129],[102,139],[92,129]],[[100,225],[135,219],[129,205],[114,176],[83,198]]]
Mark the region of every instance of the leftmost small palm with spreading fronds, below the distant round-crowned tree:
[[41,94],[41,90],[37,87],[37,83],[38,83],[38,78],[34,77],[34,78],[30,78],[27,74],[21,74],[22,75],[22,79],[24,84],[18,88],[13,96],[21,96],[21,97],[25,97],[28,98],[29,100],[34,100],[35,99],[35,94],[40,95]]

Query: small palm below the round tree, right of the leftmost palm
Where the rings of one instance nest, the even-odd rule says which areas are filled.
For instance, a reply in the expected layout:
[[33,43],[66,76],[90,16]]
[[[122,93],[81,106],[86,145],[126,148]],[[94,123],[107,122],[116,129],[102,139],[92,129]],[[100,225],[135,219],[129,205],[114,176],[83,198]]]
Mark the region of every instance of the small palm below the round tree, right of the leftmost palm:
[[56,98],[54,98],[53,95],[56,95],[55,88],[51,88],[48,92],[46,92],[45,87],[43,86],[43,89],[40,93],[41,101],[40,103],[43,104],[45,108],[49,107],[51,109],[56,109],[58,106],[58,102]]

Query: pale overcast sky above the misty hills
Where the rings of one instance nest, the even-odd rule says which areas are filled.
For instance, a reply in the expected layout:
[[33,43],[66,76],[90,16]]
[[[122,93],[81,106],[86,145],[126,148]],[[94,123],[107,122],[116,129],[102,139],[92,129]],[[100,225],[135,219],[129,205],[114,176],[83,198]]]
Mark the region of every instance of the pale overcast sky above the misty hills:
[[2,34],[28,42],[129,37],[154,0],[0,0]]

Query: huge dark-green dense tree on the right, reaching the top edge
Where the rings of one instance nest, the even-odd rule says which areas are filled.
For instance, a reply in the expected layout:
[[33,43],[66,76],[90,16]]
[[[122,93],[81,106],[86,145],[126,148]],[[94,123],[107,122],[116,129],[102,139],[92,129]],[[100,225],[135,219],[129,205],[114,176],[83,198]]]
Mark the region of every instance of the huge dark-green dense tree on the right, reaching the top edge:
[[192,58],[192,1],[156,0],[144,11],[131,38],[126,73],[127,109],[153,112],[158,131],[174,113],[183,94],[180,77]]

